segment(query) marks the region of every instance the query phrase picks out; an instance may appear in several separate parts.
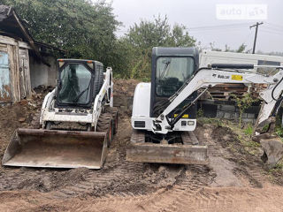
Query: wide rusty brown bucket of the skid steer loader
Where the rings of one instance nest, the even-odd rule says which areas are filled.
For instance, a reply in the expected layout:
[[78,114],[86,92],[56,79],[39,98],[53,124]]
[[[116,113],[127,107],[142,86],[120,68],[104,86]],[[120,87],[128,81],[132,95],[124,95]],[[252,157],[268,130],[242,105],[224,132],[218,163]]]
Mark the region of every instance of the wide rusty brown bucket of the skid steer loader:
[[2,160],[5,166],[100,169],[106,133],[18,129]]

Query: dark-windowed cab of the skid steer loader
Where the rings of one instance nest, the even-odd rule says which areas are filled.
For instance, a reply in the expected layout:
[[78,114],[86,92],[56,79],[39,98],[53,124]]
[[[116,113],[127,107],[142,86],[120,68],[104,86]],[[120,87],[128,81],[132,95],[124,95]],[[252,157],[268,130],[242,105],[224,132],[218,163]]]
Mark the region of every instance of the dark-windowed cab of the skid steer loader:
[[57,60],[58,108],[88,109],[103,85],[103,64],[94,60]]

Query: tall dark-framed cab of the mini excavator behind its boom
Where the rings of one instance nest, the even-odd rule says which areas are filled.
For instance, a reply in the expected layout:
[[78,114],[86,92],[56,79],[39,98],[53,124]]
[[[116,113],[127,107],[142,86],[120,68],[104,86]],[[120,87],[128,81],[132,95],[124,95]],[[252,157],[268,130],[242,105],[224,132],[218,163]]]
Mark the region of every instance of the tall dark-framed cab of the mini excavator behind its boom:
[[[157,110],[158,102],[174,95],[195,73],[198,69],[198,56],[198,50],[195,48],[155,47],[152,49],[150,117],[158,117],[162,113],[161,110]],[[178,110],[195,96],[196,92],[172,111],[169,117],[176,116]],[[196,106],[188,109],[185,117],[195,118]]]

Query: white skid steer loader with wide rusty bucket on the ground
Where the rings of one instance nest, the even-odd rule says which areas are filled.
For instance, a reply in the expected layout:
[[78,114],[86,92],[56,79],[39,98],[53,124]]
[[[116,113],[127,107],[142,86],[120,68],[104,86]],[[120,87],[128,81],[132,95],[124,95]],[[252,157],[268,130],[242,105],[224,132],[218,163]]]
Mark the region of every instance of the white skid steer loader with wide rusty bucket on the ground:
[[45,96],[34,129],[13,134],[5,166],[100,169],[118,127],[112,70],[93,60],[58,59],[57,87]]

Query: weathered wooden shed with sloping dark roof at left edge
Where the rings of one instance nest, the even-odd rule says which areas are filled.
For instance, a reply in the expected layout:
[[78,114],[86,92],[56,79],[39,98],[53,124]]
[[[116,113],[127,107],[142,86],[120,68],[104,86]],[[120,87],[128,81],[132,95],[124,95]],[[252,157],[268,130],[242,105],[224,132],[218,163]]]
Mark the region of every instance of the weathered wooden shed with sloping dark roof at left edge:
[[[32,85],[55,83],[56,58],[50,59],[46,49],[62,52],[48,44],[35,42],[16,11],[0,5],[0,103],[27,98],[32,94]],[[32,78],[31,72],[34,74]]]

